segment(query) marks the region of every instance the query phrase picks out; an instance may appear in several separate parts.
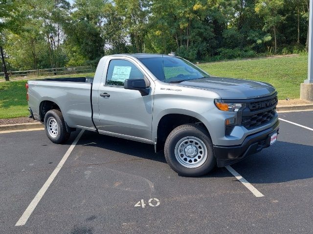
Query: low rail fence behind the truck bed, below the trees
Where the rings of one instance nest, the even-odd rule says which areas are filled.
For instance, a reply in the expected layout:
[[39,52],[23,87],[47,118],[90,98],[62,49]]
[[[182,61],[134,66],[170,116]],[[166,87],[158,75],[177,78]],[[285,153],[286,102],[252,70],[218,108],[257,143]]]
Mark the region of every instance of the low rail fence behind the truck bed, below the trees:
[[[92,72],[92,66],[79,66],[79,67],[58,67],[58,68],[46,68],[38,70],[27,71],[8,71],[9,78],[19,77],[41,77],[46,75],[66,75],[76,73]],[[0,77],[4,77],[4,73],[0,72]]]

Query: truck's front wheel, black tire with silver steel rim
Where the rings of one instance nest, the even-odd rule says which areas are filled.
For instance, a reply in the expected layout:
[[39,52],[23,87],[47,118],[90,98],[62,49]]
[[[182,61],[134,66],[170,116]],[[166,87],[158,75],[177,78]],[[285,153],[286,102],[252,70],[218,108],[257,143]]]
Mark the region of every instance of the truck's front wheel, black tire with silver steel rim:
[[[201,147],[199,147],[199,149],[197,148],[197,143],[194,146],[189,146],[193,147],[192,151],[193,151],[193,158],[187,157],[188,153],[184,154],[184,155],[179,155],[180,153],[178,153],[178,155],[176,156],[175,152],[188,152],[188,143],[193,142],[192,138],[188,138],[188,137],[195,137],[196,142],[200,142],[200,145],[205,145],[203,152],[201,151]],[[185,140],[184,140],[185,139]],[[200,139],[200,141],[197,141],[197,139]],[[183,142],[181,142],[183,141]],[[190,142],[189,142],[190,141]],[[179,142],[181,142],[179,144]],[[188,142],[188,143],[186,143]],[[177,147],[178,145],[178,147]],[[199,144],[198,144],[199,145]],[[204,146],[203,145],[203,146]],[[180,146],[180,147],[179,147]],[[176,148],[177,147],[177,148]],[[184,147],[183,149],[181,147]],[[196,149],[196,150],[194,150]],[[177,150],[177,151],[176,151]],[[191,151],[191,152],[192,152]],[[202,159],[198,159],[197,157],[199,157],[200,153],[202,152]],[[205,155],[205,151],[207,152],[206,156]],[[164,146],[164,155],[165,155],[165,159],[167,161],[167,163],[170,165],[170,167],[177,172],[179,175],[182,176],[203,176],[207,173],[209,173],[216,165],[216,158],[214,156],[214,151],[213,151],[213,144],[212,144],[212,140],[209,137],[208,132],[206,131],[206,129],[204,127],[202,127],[201,125],[197,125],[197,124],[184,124],[184,125],[180,125],[179,127],[175,128],[167,137],[166,141],[165,141],[165,146]],[[186,156],[187,155],[187,156]],[[179,158],[179,156],[181,157],[181,159]],[[200,156],[201,157],[201,156]],[[206,157],[206,158],[205,158]],[[189,159],[190,163],[200,163],[199,166],[196,165],[192,165],[190,163],[188,163],[188,161],[186,161],[186,164],[189,165],[182,165],[183,160],[185,159]],[[192,160],[191,160],[192,159]],[[180,160],[180,162],[179,162]],[[194,161],[198,161],[199,162],[194,162]],[[200,160],[202,160],[200,162]],[[202,163],[202,164],[201,164]],[[196,166],[195,168],[188,168],[189,166]]]

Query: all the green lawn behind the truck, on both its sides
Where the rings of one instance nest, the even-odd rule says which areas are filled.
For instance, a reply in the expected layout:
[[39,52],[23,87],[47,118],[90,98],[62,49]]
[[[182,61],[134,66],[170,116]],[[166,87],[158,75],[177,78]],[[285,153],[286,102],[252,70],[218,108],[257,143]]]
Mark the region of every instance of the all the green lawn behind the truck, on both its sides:
[[[300,83],[307,78],[308,56],[276,59],[235,60],[199,65],[209,74],[264,81],[278,91],[278,98],[299,98]],[[62,77],[92,77],[93,73]],[[26,80],[0,82],[0,118],[28,116]]]

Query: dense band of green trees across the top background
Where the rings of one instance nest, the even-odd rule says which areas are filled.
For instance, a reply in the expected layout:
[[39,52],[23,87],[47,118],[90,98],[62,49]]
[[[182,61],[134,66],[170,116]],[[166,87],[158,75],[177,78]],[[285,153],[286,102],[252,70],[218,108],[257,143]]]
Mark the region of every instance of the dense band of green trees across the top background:
[[0,0],[0,44],[13,69],[96,65],[115,53],[292,53],[304,49],[308,13],[309,0]]

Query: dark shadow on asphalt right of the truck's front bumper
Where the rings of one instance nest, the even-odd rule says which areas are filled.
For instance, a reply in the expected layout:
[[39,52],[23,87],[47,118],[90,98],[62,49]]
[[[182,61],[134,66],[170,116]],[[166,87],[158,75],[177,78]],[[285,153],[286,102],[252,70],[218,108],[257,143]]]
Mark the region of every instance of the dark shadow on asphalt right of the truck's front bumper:
[[250,183],[283,183],[313,177],[313,146],[278,141],[232,167]]

